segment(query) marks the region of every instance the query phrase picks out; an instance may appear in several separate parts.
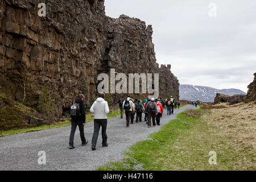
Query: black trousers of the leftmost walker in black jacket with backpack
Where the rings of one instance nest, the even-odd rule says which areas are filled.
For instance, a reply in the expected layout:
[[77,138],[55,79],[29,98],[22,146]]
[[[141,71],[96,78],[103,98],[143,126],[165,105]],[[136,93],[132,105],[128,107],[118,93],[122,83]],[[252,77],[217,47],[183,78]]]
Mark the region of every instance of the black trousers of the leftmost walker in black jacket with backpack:
[[79,126],[80,138],[82,143],[86,142],[85,136],[84,136],[84,126],[82,126],[82,122],[76,121],[76,119],[71,119],[71,133],[69,136],[69,146],[74,145],[74,137],[75,137],[77,125]]

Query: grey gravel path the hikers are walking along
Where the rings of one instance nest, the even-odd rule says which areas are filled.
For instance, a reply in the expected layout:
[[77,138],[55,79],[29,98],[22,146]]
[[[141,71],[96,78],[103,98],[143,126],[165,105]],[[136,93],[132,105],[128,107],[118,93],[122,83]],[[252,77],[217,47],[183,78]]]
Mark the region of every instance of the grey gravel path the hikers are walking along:
[[[187,109],[195,109],[187,105],[176,109],[171,116],[164,111],[161,126],[174,119],[177,113]],[[144,114],[142,114],[144,117]],[[0,170],[94,170],[103,164],[123,159],[123,151],[128,146],[148,139],[148,135],[155,133],[161,126],[147,128],[146,122],[139,122],[125,127],[125,119],[119,117],[108,119],[109,147],[101,147],[101,132],[97,142],[97,150],[92,151],[93,122],[86,123],[85,138],[89,140],[87,146],[81,146],[79,129],[75,135],[75,149],[69,150],[68,140],[71,127],[61,127],[10,135],[0,138]],[[46,152],[46,165],[38,164],[38,152]]]

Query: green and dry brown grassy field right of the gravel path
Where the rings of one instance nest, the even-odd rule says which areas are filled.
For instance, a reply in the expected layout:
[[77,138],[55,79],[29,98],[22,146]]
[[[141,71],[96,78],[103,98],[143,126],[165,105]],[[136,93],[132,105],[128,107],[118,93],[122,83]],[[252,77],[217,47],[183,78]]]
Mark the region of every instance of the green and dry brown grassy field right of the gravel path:
[[[131,146],[127,158],[98,170],[255,170],[254,110],[251,103],[180,113],[177,118],[188,124],[170,121]],[[209,164],[210,151],[217,164]]]

